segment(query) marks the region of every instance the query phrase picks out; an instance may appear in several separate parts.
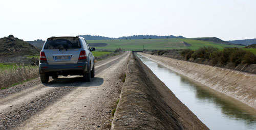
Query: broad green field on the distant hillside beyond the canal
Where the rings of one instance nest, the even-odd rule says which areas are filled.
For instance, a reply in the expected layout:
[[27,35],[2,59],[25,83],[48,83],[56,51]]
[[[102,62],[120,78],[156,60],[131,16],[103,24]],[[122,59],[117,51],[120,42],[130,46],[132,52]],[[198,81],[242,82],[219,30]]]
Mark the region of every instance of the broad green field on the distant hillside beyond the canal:
[[[184,42],[191,44],[186,46]],[[125,50],[155,50],[155,49],[198,49],[202,46],[214,46],[222,49],[223,47],[243,47],[239,45],[226,45],[214,42],[195,40],[195,39],[136,39],[136,40],[88,40],[89,43],[108,43],[106,46],[95,46],[96,49],[111,49],[122,48]]]

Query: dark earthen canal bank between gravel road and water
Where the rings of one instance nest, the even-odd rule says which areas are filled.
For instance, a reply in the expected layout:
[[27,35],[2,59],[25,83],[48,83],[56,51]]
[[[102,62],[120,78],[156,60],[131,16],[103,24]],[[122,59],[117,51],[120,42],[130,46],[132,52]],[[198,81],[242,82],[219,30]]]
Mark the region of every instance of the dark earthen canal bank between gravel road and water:
[[208,129],[134,55],[126,75],[112,129]]

